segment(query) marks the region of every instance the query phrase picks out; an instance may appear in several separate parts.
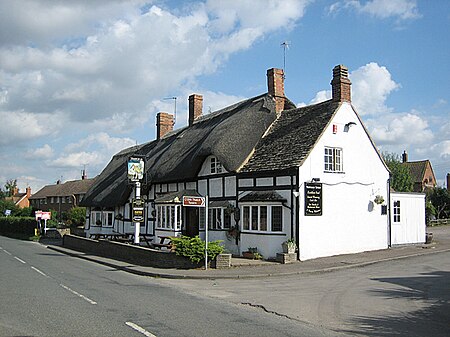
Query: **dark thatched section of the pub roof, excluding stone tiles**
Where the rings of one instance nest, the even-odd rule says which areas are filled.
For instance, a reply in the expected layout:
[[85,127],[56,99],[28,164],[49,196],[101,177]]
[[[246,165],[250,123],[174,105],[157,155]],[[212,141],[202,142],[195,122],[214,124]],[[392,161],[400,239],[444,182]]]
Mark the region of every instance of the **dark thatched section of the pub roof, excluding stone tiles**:
[[[292,109],[295,105],[286,100],[285,108]],[[124,204],[131,192],[126,172],[131,155],[145,157],[147,187],[195,179],[210,155],[216,156],[227,171],[237,172],[277,117],[274,99],[264,94],[202,116],[193,125],[172,131],[159,140],[123,150],[97,177],[82,204],[93,207]]]

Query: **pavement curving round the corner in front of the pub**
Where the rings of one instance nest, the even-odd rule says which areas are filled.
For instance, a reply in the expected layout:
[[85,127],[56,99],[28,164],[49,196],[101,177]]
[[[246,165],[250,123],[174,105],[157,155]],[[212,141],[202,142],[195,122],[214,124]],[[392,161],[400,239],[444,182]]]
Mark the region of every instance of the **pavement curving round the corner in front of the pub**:
[[61,240],[44,239],[41,241],[41,244],[60,253],[137,275],[171,279],[240,279],[324,273],[344,268],[364,267],[384,261],[450,251],[450,226],[430,227],[427,229],[427,232],[433,233],[433,241],[430,244],[394,246],[377,251],[337,255],[308,261],[296,261],[289,264],[233,257],[231,268],[207,270],[163,269],[133,265],[127,262],[67,249],[61,246]]

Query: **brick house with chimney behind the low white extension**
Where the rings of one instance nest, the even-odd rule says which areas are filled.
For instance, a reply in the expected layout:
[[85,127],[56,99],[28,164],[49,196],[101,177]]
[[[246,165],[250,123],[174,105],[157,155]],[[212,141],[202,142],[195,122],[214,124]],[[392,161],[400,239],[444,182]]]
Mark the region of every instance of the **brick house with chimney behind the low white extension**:
[[414,192],[424,192],[429,188],[436,187],[436,177],[434,176],[431,162],[427,160],[408,161],[408,153],[403,151],[402,165],[405,165],[414,182]]

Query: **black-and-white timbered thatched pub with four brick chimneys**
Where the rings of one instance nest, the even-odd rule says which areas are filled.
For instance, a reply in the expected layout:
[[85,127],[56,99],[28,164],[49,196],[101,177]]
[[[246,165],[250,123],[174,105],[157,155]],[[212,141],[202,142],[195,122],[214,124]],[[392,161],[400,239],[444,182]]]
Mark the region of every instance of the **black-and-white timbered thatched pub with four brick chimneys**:
[[[269,69],[267,84],[267,93],[207,115],[202,96],[191,95],[178,130],[160,112],[157,139],[117,153],[86,193],[87,236],[135,232],[127,162],[140,157],[141,233],[205,238],[207,223],[209,240],[264,258],[291,238],[300,260],[387,248],[390,172],[351,104],[347,68],[333,69],[332,99],[300,108],[285,97],[282,70]],[[185,196],[208,197],[208,213],[185,206]]]

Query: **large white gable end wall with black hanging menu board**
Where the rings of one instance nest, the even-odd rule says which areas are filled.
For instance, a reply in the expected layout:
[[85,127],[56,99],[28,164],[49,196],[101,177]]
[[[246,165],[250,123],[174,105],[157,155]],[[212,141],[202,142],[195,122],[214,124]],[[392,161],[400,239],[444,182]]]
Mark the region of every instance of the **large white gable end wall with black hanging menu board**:
[[[348,122],[356,125],[346,130]],[[344,173],[324,172],[325,146],[343,149]],[[323,184],[322,216],[304,215],[304,183],[312,178]],[[299,169],[300,260],[387,248],[388,217],[373,200],[387,200],[388,178],[361,121],[344,103]]]

